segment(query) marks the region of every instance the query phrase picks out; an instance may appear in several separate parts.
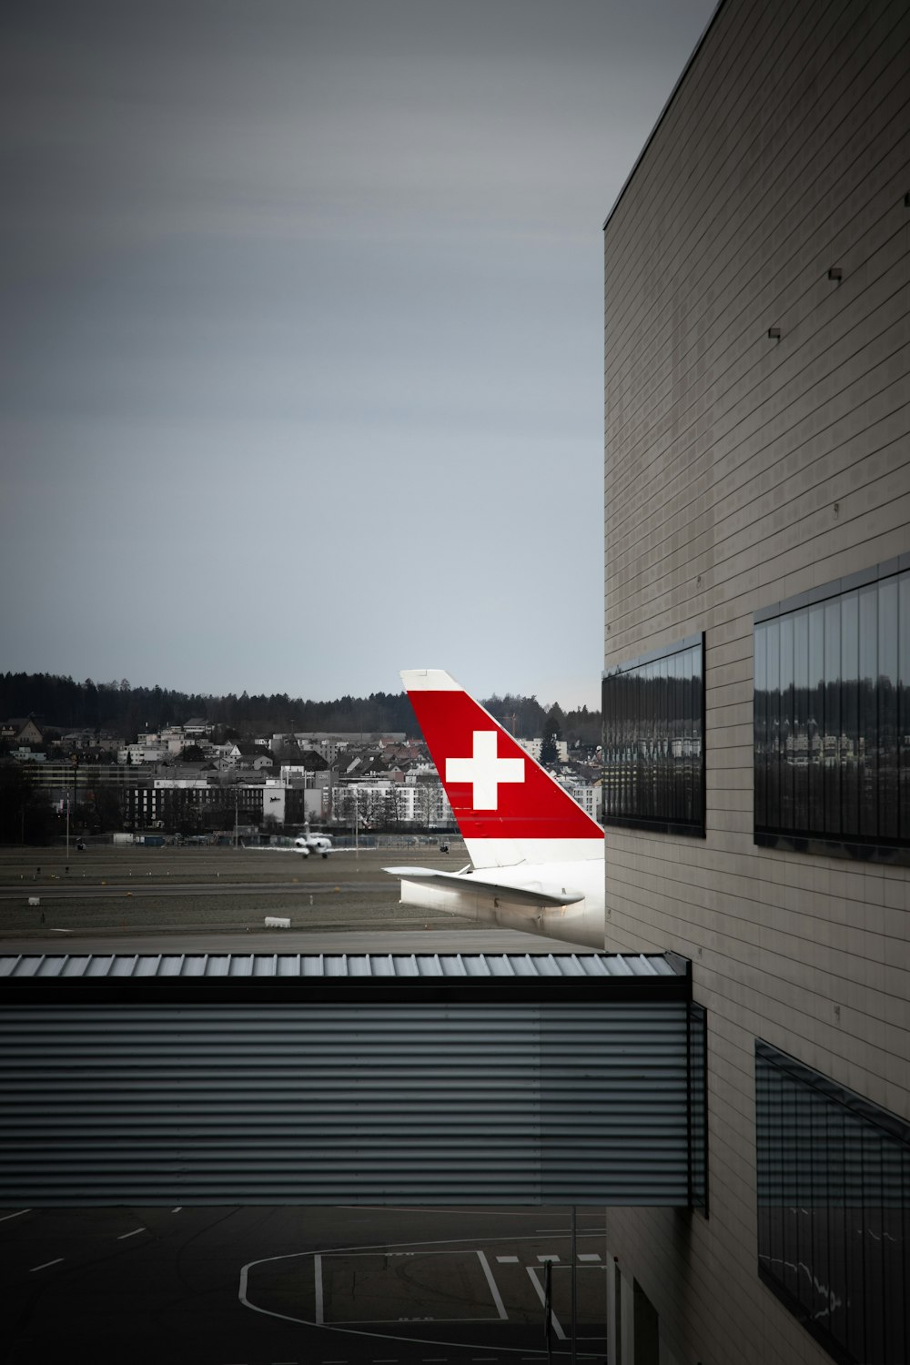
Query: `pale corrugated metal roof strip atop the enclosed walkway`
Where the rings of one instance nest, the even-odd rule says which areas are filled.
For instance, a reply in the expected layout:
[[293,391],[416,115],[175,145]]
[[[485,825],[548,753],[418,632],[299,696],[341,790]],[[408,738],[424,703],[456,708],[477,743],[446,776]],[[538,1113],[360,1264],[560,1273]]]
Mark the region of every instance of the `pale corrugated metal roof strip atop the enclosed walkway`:
[[20,953],[0,956],[0,980],[60,979],[510,979],[674,977],[667,954],[618,953]]

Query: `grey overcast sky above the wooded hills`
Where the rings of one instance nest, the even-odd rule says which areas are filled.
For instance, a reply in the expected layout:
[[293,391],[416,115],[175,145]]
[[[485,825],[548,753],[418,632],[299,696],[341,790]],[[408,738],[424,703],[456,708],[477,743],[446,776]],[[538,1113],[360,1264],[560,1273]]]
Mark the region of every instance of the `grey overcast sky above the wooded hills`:
[[7,5],[0,669],[599,706],[602,224],[712,11]]

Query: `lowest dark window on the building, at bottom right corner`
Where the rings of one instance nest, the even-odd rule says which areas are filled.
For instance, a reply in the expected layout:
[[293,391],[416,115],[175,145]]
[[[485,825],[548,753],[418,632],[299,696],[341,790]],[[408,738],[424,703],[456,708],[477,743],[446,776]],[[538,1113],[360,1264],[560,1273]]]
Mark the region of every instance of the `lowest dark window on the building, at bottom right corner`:
[[759,1274],[840,1361],[910,1360],[910,1127],[756,1043]]

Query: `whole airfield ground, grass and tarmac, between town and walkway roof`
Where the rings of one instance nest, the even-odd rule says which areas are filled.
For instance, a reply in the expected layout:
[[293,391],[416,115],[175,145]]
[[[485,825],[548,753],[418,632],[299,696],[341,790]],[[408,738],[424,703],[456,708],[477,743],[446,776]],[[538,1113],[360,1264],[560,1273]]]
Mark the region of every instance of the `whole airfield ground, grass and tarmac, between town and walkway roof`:
[[[0,953],[516,953],[572,946],[398,902],[386,865],[456,871],[464,846],[0,849]],[[291,921],[266,930],[265,919]]]

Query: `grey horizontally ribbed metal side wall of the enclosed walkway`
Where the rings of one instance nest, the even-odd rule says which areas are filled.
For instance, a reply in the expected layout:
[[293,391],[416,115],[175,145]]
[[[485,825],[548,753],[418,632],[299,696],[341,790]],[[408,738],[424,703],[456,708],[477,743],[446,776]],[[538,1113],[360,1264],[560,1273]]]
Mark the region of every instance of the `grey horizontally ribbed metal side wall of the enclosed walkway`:
[[0,1203],[690,1198],[682,1001],[10,1003]]

